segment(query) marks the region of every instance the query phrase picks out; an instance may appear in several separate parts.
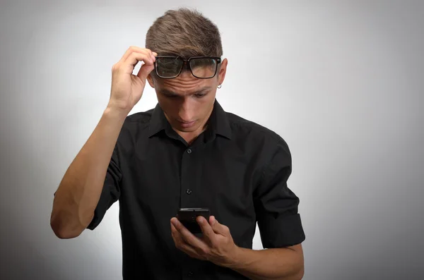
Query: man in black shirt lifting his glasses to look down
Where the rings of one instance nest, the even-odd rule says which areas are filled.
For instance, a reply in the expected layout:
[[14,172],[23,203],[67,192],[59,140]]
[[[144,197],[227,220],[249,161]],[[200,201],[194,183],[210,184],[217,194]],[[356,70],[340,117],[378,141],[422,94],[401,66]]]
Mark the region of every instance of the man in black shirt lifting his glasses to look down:
[[[107,109],[55,193],[59,238],[95,229],[119,200],[124,279],[302,279],[288,145],[223,111],[222,54],[216,25],[179,9],[155,20],[146,48],[114,64]],[[158,105],[128,116],[146,81]],[[201,235],[175,218],[184,207],[210,209],[196,220]],[[252,250],[257,223],[264,250]]]

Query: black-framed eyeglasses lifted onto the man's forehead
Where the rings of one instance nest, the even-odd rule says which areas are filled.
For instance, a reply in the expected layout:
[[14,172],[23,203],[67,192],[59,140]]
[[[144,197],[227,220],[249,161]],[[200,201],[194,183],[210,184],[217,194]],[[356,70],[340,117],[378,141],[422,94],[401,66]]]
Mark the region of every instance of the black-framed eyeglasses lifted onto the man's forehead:
[[172,79],[178,77],[184,65],[199,79],[215,77],[220,63],[220,57],[196,56],[182,59],[179,56],[156,56],[155,71],[160,78]]

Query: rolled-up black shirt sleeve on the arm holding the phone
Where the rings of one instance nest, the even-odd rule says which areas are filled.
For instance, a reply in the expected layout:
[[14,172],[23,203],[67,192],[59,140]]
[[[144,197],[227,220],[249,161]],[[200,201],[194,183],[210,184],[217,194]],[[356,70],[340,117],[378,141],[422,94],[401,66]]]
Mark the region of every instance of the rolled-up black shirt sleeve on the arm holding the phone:
[[292,171],[291,154],[279,138],[254,192],[254,205],[264,248],[282,248],[305,241],[298,213],[299,198],[288,188]]

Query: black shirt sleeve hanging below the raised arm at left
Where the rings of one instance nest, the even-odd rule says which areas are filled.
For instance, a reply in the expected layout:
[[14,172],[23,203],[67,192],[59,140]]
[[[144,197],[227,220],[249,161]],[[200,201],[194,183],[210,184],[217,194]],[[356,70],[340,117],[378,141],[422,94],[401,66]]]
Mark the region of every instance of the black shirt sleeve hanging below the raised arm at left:
[[103,184],[102,193],[98,205],[94,210],[94,217],[88,224],[87,229],[93,231],[102,221],[107,210],[119,199],[120,188],[119,183],[122,178],[121,169],[119,169],[119,161],[117,156],[117,147],[115,146],[107,167],[105,183]]

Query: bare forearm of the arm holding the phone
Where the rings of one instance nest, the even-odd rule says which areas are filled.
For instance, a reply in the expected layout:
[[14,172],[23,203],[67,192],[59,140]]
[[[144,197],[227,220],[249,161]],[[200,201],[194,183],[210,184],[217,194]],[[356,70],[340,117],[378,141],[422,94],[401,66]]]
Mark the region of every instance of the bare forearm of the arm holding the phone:
[[252,280],[299,280],[302,279],[303,253],[292,248],[251,250],[237,248],[235,258],[228,265],[230,269]]

